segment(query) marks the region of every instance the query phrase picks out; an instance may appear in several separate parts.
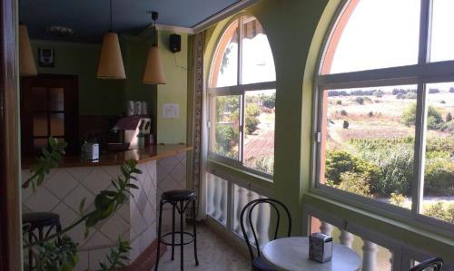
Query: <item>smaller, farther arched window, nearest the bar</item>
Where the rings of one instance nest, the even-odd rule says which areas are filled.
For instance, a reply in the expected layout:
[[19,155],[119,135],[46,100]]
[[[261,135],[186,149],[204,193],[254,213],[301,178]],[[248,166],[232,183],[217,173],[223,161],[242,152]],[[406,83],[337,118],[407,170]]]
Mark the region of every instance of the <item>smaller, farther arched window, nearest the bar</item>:
[[276,73],[268,38],[252,16],[227,26],[208,82],[209,154],[265,175],[274,170]]

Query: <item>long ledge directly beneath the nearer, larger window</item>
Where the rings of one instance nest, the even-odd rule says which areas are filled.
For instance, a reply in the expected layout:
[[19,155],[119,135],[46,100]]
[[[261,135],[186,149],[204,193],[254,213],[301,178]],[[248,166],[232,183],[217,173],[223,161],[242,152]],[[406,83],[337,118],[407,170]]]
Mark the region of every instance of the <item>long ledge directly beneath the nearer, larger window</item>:
[[367,228],[414,249],[427,250],[446,259],[452,257],[450,253],[454,251],[452,231],[422,224],[413,218],[390,214],[379,208],[371,209],[348,198],[340,199],[335,195],[326,195],[326,191],[321,189],[312,189],[311,192],[304,193],[302,202],[303,209],[306,206],[321,210],[328,216],[342,219],[350,225]]

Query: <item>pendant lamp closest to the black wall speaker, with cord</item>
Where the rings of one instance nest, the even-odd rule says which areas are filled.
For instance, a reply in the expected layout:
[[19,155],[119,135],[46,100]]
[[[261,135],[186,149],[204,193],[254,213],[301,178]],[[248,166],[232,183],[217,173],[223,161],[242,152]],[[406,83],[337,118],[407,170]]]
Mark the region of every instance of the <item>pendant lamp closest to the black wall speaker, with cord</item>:
[[158,32],[156,30],[156,20],[158,13],[152,12],[153,19],[153,45],[148,51],[148,58],[145,65],[145,73],[143,73],[143,83],[146,84],[164,84],[165,76],[163,72],[163,65],[159,56],[158,48]]

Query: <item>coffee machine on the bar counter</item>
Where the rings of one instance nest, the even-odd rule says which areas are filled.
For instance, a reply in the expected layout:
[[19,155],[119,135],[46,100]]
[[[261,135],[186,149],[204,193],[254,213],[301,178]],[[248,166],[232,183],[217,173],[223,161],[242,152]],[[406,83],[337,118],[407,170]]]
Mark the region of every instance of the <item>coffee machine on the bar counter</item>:
[[112,131],[118,133],[119,142],[109,143],[111,150],[138,150],[149,144],[152,120],[143,116],[123,117]]

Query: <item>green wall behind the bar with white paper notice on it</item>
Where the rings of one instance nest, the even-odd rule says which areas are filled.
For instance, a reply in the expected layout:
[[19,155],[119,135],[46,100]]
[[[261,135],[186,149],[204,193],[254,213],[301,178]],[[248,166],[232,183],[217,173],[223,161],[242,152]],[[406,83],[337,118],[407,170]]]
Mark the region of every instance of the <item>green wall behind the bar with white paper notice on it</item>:
[[[39,47],[54,49],[54,68],[38,67],[39,73],[78,75],[81,115],[121,115],[126,101],[145,101],[148,102],[158,142],[179,143],[186,140],[188,36],[182,34],[182,52],[171,53],[168,49],[169,34],[172,33],[159,33],[161,60],[167,79],[166,84],[159,86],[142,83],[148,49],[152,45],[149,35],[120,36],[126,80],[96,78],[101,44],[34,40],[32,47],[36,63]],[[178,103],[179,117],[163,118],[163,103]]]

